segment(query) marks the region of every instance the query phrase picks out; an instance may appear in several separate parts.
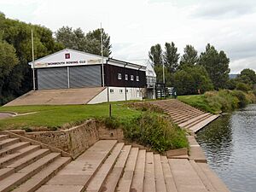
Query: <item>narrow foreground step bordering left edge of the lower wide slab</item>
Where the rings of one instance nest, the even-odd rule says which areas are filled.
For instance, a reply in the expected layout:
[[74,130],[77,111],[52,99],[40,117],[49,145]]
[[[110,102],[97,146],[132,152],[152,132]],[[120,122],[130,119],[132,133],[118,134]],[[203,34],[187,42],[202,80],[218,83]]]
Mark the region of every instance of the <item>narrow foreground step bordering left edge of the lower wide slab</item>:
[[166,156],[160,156],[162,169],[164,173],[164,178],[166,181],[166,191],[167,192],[177,192],[176,185],[174,183],[174,178],[172,176],[171,168]]

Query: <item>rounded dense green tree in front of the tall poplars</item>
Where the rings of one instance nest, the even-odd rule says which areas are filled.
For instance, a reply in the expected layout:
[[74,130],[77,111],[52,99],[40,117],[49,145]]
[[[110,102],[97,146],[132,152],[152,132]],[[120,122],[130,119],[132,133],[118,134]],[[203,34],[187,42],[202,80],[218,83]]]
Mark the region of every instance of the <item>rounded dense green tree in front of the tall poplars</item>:
[[178,95],[197,94],[198,91],[204,93],[213,89],[206,69],[201,66],[183,66],[182,70],[174,73],[173,85],[177,88]]

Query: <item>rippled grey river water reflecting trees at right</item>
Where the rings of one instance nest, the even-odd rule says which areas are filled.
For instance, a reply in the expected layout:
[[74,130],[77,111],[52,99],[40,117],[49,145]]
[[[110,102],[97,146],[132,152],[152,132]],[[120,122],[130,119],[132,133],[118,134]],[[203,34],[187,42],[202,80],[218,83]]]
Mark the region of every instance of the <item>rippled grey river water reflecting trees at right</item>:
[[230,191],[256,192],[256,105],[224,114],[196,135]]

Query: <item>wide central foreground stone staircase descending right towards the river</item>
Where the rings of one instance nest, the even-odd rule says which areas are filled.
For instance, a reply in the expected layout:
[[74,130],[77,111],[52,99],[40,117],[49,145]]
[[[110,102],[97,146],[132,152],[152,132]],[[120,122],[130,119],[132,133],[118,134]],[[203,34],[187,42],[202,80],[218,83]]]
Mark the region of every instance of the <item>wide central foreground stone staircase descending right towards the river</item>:
[[[17,190],[23,191],[23,190]],[[226,192],[206,163],[100,140],[37,192]]]

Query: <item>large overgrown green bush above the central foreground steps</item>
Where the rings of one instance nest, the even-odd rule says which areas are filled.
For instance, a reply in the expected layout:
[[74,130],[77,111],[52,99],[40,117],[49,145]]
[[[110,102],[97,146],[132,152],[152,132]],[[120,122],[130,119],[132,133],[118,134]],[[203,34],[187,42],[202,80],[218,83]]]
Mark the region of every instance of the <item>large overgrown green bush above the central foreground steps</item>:
[[185,132],[163,116],[143,113],[124,125],[125,138],[158,152],[188,147]]

